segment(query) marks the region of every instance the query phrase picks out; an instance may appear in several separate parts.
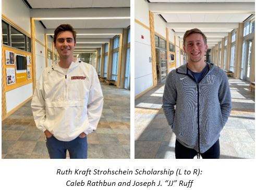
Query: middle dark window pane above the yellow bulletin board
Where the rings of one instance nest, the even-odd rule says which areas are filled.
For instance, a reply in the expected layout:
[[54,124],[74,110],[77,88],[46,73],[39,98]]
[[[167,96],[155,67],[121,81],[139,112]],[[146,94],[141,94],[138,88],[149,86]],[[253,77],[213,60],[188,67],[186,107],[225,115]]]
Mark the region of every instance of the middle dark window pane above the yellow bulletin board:
[[21,50],[26,51],[26,36],[13,28],[11,26],[10,28],[10,33],[11,33],[11,47],[15,47]]

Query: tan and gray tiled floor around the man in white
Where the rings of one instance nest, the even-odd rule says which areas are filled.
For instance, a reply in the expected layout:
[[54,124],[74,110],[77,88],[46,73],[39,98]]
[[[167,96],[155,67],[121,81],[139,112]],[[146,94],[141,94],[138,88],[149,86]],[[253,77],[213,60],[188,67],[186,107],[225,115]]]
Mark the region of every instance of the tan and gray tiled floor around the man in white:
[[[130,91],[101,85],[103,113],[97,130],[88,135],[88,158],[130,158]],[[2,158],[49,158],[30,104],[2,121]]]

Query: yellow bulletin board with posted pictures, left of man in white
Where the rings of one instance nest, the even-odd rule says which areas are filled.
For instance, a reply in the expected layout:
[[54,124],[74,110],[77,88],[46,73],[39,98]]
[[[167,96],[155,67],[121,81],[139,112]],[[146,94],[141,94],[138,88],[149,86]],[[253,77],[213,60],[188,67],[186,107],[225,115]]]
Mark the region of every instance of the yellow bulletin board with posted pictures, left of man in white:
[[[4,81],[2,81],[2,83],[5,85],[5,91],[7,92],[32,83],[32,53],[17,50],[7,46],[2,47],[2,74],[4,75]],[[27,59],[27,70],[25,70],[25,72],[17,73],[16,55],[24,56]]]

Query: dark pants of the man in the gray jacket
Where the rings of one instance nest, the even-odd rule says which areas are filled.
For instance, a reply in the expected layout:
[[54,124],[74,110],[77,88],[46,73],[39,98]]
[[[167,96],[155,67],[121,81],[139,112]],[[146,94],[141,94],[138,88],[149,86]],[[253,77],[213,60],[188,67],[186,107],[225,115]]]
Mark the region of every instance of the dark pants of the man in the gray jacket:
[[[175,142],[175,158],[176,159],[192,159],[196,156],[198,152],[192,148],[187,148],[186,146]],[[217,140],[209,150],[200,154],[204,159],[219,159],[220,158],[220,141]]]

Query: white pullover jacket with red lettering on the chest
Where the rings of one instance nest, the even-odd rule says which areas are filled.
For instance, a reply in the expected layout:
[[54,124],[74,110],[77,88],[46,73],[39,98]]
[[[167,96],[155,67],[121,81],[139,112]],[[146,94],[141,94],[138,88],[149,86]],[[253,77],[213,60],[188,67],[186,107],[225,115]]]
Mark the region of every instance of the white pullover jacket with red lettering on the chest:
[[93,132],[103,108],[94,67],[80,60],[70,64],[67,74],[59,66],[46,67],[36,84],[31,107],[36,127],[47,129],[60,141]]

